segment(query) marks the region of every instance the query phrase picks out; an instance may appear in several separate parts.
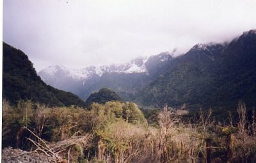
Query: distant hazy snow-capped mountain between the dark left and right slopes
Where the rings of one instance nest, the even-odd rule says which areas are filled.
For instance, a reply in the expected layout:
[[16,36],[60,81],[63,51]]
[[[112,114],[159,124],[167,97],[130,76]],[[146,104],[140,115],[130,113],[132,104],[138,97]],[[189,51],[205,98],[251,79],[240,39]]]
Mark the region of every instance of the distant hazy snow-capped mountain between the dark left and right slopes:
[[124,99],[130,99],[152,76],[163,71],[163,66],[173,59],[172,56],[173,53],[164,52],[149,58],[139,57],[125,64],[89,66],[83,69],[50,66],[38,74],[45,83],[73,92],[83,99],[102,87],[113,89]]

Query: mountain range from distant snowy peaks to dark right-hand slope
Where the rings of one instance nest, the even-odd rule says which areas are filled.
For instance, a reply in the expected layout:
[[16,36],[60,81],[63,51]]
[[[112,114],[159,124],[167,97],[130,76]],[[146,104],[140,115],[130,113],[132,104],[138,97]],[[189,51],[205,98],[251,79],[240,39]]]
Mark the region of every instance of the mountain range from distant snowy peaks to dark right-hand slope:
[[256,30],[230,43],[201,43],[174,57],[163,52],[127,64],[67,69],[50,66],[38,74],[45,83],[84,101],[102,88],[142,108],[164,104],[182,108],[256,106]]

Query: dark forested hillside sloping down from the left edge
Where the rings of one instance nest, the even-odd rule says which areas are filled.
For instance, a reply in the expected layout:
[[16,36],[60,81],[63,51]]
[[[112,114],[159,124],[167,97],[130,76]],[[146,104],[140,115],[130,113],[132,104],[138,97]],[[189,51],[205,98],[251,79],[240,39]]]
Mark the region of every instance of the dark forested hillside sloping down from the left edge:
[[46,85],[22,51],[3,43],[3,97],[11,104],[29,100],[48,106],[81,106],[82,99]]

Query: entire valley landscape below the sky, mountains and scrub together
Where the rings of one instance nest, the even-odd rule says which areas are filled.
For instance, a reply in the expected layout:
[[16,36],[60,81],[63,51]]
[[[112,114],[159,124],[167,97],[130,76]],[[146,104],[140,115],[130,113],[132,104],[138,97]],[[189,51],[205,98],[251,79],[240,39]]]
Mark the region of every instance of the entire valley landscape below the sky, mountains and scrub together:
[[252,30],[179,57],[38,76],[3,43],[2,161],[255,162],[255,52]]

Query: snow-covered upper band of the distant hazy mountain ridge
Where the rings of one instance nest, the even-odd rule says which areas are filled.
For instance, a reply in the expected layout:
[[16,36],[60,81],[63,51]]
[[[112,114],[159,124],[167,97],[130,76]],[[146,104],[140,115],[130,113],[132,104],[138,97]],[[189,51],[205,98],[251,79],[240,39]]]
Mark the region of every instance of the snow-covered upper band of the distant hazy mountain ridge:
[[[157,60],[157,64],[161,62],[166,62],[172,59],[172,53],[164,52],[157,55],[159,59]],[[110,66],[90,66],[85,67],[83,69],[68,69],[64,66],[49,66],[38,74],[41,76],[42,80],[45,82],[51,82],[49,80],[56,80],[57,78],[72,78],[74,80],[86,80],[90,79],[93,76],[102,76],[102,74],[106,73],[119,73],[119,74],[131,74],[131,73],[148,73],[147,67],[149,66],[149,62],[152,60],[156,60],[156,55],[150,57],[139,57],[137,59],[131,60],[131,62],[126,64],[112,64]]]

